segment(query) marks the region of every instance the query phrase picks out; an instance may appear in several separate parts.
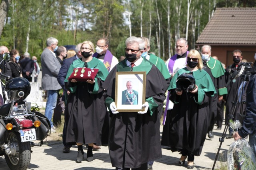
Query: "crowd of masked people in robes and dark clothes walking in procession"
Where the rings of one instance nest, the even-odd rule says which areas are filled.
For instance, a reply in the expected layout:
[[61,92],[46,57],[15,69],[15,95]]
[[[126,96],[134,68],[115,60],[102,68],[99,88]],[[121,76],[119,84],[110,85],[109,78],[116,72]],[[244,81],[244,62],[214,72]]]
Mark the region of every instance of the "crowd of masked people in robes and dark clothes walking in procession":
[[[75,50],[67,51],[58,46],[56,38],[49,37],[41,55],[41,68],[36,56],[30,59],[26,52],[20,57],[17,50],[9,52],[5,46],[0,47],[0,54],[10,53],[10,61],[0,67],[10,76],[23,76],[30,82],[36,82],[42,71],[42,90],[47,92],[45,116],[50,120],[51,132],[56,132],[55,126],[60,125],[64,112],[63,152],[68,153],[70,147],[77,145],[77,163],[84,160],[83,145],[88,148],[88,162],[94,160],[93,150],[108,145],[116,170],[152,169],[154,160],[162,156],[161,145],[165,145],[172,152],[181,153],[178,166],[184,166],[187,159],[186,167],[193,169],[195,156],[200,156],[207,135],[214,138],[214,124],[217,130],[222,129],[224,105],[225,124],[230,119],[243,124],[235,133],[229,128],[226,138],[237,140],[250,135],[250,145],[256,153],[255,76],[244,82],[243,69],[237,72],[238,67],[243,67],[242,51],[233,51],[234,63],[226,68],[211,55],[210,45],[202,46],[200,52],[188,51],[188,41],[184,38],[176,41],[176,54],[166,62],[150,53],[146,37],[129,37],[125,44],[125,56],[119,62],[109,51],[106,38],[98,39],[96,47],[91,41],[84,41]],[[122,102],[117,105],[116,72],[124,72],[127,77],[133,72],[145,72],[145,93],[138,91],[134,79],[125,79],[125,87],[120,91]],[[246,96],[246,89],[250,95]],[[237,109],[230,115],[241,90]],[[140,96],[144,96],[143,103]],[[248,105],[243,107],[246,116],[242,119],[241,100],[245,99]],[[122,105],[130,109],[120,108]],[[140,109],[134,109],[135,105]]]

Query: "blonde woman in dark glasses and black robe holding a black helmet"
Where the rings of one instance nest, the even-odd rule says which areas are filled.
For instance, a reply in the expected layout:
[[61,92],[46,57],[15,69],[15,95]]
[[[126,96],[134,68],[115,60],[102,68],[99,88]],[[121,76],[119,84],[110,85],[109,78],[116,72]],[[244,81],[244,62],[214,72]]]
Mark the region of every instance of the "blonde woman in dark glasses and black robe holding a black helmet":
[[[170,100],[174,103],[170,121],[170,147],[172,152],[180,151],[179,165],[188,156],[188,169],[194,168],[194,156],[199,156],[207,134],[209,119],[209,97],[216,93],[210,75],[202,70],[202,59],[198,51],[188,53],[187,68],[182,68],[170,83]],[[176,80],[182,73],[195,78],[194,90],[176,89]]]

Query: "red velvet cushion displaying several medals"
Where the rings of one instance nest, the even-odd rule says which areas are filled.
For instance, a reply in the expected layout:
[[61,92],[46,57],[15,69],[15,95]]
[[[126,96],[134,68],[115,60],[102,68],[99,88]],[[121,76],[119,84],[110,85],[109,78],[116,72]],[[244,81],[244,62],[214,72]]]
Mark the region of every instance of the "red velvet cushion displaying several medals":
[[74,68],[74,71],[68,77],[68,80],[75,79],[78,82],[86,82],[87,80],[93,81],[98,71],[99,69],[97,68]]

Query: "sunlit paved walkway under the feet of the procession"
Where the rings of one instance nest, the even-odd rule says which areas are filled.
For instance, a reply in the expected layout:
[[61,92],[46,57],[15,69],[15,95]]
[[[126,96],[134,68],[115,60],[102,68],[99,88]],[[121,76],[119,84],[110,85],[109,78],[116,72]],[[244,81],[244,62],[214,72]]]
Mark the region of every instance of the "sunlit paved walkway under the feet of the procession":
[[[222,127],[224,129],[224,127]],[[162,130],[162,126],[160,128]],[[211,170],[214,164],[215,156],[220,145],[219,137],[223,131],[217,131],[214,127],[214,138],[206,137],[202,154],[195,156],[194,170]],[[222,143],[220,155],[214,169],[218,169],[220,165],[226,165],[226,152],[233,139],[225,139]],[[70,153],[62,153],[63,145],[61,141],[50,142],[50,145],[42,145],[42,147],[32,147],[31,162],[29,170],[113,170],[111,166],[110,157],[108,154],[108,147],[102,146],[99,151],[93,151],[94,160],[82,163],[76,163],[77,147],[71,148]],[[86,147],[84,147],[86,153]],[[86,154],[85,154],[86,157]],[[185,166],[178,166],[180,154],[178,152],[171,152],[168,147],[162,147],[162,158],[155,160],[153,170],[186,170]],[[4,156],[0,156],[0,169],[9,170]]]

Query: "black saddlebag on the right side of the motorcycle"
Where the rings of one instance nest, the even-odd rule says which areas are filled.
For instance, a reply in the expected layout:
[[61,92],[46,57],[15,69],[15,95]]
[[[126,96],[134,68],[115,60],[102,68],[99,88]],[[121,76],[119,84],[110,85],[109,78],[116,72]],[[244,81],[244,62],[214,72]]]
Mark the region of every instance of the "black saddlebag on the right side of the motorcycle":
[[47,117],[45,115],[43,115],[42,113],[36,111],[35,114],[36,114],[35,117],[31,117],[32,121],[34,122],[34,121],[38,120],[41,122],[41,125],[39,127],[36,127],[36,140],[42,141],[47,136],[50,135],[48,133],[51,128],[51,123],[47,119]]

